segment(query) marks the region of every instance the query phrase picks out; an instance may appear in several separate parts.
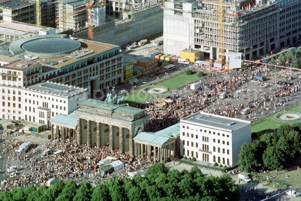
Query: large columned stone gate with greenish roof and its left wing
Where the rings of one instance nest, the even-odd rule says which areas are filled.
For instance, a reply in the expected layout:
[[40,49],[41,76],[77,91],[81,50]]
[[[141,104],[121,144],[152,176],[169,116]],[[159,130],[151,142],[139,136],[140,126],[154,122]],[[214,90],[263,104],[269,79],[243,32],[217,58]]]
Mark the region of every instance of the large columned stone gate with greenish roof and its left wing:
[[[133,138],[140,129],[144,129],[147,118],[143,109],[88,99],[79,103],[74,114],[55,116],[50,120],[53,125],[51,138],[61,137],[64,140],[67,136],[71,139],[73,135],[77,144],[87,144],[88,147],[109,144],[110,149],[119,148],[120,153],[129,151],[130,155],[134,155]],[[70,135],[67,135],[67,130],[70,130]]]

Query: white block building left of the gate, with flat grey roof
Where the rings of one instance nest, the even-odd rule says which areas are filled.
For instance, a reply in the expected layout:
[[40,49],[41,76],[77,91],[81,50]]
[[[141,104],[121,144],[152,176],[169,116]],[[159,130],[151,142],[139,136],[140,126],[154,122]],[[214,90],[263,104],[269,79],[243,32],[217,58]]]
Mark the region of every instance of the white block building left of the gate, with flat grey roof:
[[88,89],[54,82],[41,82],[23,88],[23,119],[45,124],[57,114],[68,115],[88,99]]

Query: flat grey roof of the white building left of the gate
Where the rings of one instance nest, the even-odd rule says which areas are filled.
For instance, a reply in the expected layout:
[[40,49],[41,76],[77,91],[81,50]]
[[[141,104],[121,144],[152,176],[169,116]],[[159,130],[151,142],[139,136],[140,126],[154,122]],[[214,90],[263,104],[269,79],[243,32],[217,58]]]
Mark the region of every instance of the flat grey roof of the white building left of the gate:
[[54,82],[40,82],[28,87],[24,87],[24,89],[32,90],[32,91],[39,91],[41,93],[53,94],[57,96],[73,96],[84,91],[87,89],[78,88],[70,85],[54,83]]

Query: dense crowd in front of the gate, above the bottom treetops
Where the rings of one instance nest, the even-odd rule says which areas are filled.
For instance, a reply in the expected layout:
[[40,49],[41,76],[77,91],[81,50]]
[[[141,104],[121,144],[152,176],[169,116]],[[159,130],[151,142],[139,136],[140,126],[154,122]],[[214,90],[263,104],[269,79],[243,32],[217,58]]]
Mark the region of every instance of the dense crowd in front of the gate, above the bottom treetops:
[[[42,184],[46,184],[50,178],[58,178],[62,181],[73,179],[78,184],[83,181],[90,181],[95,187],[99,183],[105,183],[112,175],[101,174],[100,170],[91,171],[100,160],[107,158],[107,156],[113,156],[122,161],[126,166],[121,171],[116,172],[115,177],[123,178],[129,177],[128,172],[137,170],[137,168],[144,168],[154,164],[153,154],[151,154],[151,160],[147,159],[147,156],[142,155],[139,160],[135,156],[129,156],[129,152],[119,154],[119,150],[110,150],[109,146],[105,147],[87,147],[84,145],[77,145],[74,142],[48,142],[44,145],[43,150],[47,149],[59,149],[63,150],[62,155],[56,156],[44,156],[38,160],[34,153],[37,153],[36,148],[29,150],[24,156],[21,154],[16,155],[13,146],[14,142],[5,143],[3,153],[9,153],[7,158],[7,167],[12,165],[12,161],[18,164],[20,169],[25,171],[19,175],[17,171],[17,177],[8,178],[1,181],[0,193],[3,190],[13,190],[18,186],[28,187],[34,185],[38,187]],[[42,150],[42,151],[43,151]],[[3,177],[5,176],[6,169],[2,170]],[[1,172],[1,170],[0,170]]]

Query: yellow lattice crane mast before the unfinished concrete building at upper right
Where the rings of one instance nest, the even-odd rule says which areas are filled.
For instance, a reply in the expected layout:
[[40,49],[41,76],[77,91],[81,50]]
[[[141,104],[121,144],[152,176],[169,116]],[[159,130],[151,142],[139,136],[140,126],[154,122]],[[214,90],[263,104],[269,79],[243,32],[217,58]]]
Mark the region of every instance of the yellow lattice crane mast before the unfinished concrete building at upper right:
[[219,60],[218,63],[225,64],[225,7],[224,0],[219,0]]

